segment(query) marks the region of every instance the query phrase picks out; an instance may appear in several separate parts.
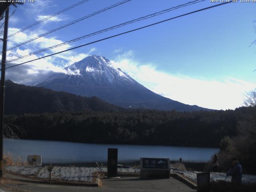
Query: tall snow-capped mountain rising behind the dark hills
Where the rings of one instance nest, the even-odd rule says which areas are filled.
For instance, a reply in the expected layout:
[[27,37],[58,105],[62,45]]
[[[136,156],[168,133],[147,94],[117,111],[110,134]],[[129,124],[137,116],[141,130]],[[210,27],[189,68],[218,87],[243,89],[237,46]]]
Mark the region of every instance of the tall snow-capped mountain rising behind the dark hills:
[[136,82],[103,56],[92,55],[64,68],[34,86],[80,96],[96,96],[124,108],[198,111],[209,110],[160,96]]

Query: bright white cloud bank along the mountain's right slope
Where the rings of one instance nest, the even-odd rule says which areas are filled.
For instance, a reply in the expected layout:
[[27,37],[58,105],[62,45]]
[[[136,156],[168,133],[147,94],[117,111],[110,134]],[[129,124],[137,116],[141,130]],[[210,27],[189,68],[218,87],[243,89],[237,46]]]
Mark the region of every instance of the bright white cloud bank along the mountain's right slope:
[[141,65],[129,56],[132,56],[131,51],[111,62],[153,92],[185,104],[235,109],[241,106],[244,94],[256,87],[254,83],[232,77],[208,80],[170,74],[157,70],[153,64]]

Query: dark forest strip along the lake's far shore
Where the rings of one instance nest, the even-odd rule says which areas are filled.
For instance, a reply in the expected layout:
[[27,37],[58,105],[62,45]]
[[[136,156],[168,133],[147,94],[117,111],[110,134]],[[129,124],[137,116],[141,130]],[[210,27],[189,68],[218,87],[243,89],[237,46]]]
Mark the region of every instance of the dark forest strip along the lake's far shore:
[[23,128],[20,138],[104,144],[220,147],[225,136],[256,107],[199,112],[127,110],[8,115],[5,122]]

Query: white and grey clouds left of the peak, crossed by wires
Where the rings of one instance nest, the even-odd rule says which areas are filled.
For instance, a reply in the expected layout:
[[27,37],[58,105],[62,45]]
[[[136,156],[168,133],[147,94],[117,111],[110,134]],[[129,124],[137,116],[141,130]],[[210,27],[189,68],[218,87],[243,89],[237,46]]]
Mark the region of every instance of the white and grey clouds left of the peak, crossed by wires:
[[[18,28],[10,28],[10,31],[12,33],[18,30],[19,30]],[[32,37],[30,36],[31,34],[33,36],[38,35],[38,34],[33,34],[32,32],[27,32],[26,34],[23,32],[20,32],[19,35],[13,36],[14,38],[10,38],[10,40],[8,41],[9,47],[30,39]],[[34,50],[38,50],[41,48],[45,48],[45,47],[52,46],[55,44],[60,44],[60,43],[62,43],[62,41],[54,37],[51,37],[51,38],[42,37],[26,44],[26,46],[24,47],[21,47],[21,48],[18,47],[8,51],[6,59],[12,60],[20,56],[28,55],[31,52],[34,52]],[[27,58],[20,59],[15,63],[18,64],[18,63],[27,62],[29,60],[34,60],[41,56],[46,56],[50,53],[66,50],[70,47],[71,47],[70,45],[66,44],[64,46],[54,48],[48,52],[43,52],[42,54],[39,54],[39,55],[32,55]],[[47,58],[43,58],[40,60],[36,60],[34,62],[29,62],[27,64],[23,64],[22,66],[10,68],[8,69],[8,72],[7,72],[7,78],[14,80],[17,83],[32,85],[56,72],[71,74],[69,71],[66,71],[63,68],[66,66],[69,66],[70,64],[73,64],[74,62],[78,62],[82,60],[83,58],[89,56],[89,54],[94,52],[95,50],[96,48],[91,48],[88,53],[80,53],[80,54],[76,53],[75,51],[68,51],[68,52],[56,54],[54,56],[50,56]],[[11,65],[12,64],[7,63],[7,67]],[[80,71],[76,71],[74,72],[74,74],[79,75]]]

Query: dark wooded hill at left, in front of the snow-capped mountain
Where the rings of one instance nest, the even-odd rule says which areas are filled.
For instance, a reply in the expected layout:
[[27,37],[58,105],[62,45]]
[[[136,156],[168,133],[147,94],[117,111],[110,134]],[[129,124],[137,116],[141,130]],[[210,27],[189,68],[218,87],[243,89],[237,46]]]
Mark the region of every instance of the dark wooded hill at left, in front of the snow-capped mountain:
[[87,98],[41,87],[25,86],[10,80],[6,80],[5,95],[5,114],[122,110],[96,97]]

